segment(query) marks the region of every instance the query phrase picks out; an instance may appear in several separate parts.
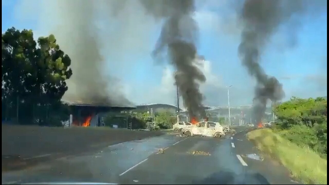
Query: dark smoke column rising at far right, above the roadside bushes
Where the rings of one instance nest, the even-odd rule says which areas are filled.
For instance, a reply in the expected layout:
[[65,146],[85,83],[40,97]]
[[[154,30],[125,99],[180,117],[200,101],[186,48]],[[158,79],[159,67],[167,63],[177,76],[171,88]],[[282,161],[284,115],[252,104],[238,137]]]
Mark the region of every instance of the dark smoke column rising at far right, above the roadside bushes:
[[285,96],[282,84],[275,77],[266,75],[260,66],[261,53],[280,25],[302,12],[301,5],[302,1],[281,0],[246,0],[243,4],[240,14],[243,28],[239,54],[242,64],[257,81],[254,97],[257,122],[265,114],[268,99],[275,102]]

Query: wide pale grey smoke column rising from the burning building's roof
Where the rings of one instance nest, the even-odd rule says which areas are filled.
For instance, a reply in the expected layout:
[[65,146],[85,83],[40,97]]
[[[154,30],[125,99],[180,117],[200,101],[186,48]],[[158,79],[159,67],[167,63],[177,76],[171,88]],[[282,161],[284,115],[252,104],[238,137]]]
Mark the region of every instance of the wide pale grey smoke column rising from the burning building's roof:
[[61,24],[55,31],[60,47],[72,60],[73,75],[68,80],[68,92],[63,96],[67,101],[92,104],[131,104],[115,84],[116,78],[103,75],[105,57],[100,43],[99,29],[95,25],[98,4],[93,1],[58,1]]

